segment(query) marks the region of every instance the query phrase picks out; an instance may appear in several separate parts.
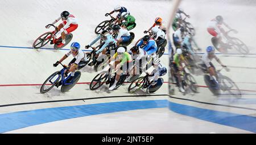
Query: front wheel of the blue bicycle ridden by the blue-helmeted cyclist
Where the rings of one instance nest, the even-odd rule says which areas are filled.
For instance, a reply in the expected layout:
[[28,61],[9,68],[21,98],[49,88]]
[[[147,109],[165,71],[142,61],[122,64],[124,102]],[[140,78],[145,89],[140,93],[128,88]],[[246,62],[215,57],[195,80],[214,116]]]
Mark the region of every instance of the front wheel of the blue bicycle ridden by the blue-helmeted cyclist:
[[[43,85],[40,88],[40,93],[43,94],[51,90],[59,82],[60,78],[60,71],[53,73],[46,79],[46,81],[44,81]],[[50,84],[47,84],[48,81]]]

